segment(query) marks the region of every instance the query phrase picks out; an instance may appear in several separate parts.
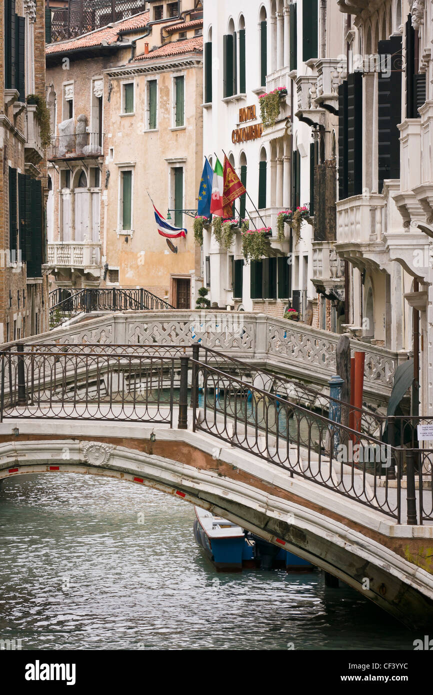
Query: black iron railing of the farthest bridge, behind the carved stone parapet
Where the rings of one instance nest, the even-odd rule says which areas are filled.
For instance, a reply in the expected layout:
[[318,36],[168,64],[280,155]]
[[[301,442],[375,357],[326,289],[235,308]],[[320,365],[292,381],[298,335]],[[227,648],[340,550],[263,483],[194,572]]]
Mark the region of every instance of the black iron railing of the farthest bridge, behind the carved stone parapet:
[[[145,288],[85,288],[83,290],[58,289],[50,295],[49,325],[54,328],[63,321],[90,311],[136,311],[173,309],[168,302],[152,294]],[[57,294],[58,293],[58,294]],[[65,293],[70,293],[65,296]],[[61,297],[61,298],[60,298]],[[55,302],[56,299],[60,301]]]

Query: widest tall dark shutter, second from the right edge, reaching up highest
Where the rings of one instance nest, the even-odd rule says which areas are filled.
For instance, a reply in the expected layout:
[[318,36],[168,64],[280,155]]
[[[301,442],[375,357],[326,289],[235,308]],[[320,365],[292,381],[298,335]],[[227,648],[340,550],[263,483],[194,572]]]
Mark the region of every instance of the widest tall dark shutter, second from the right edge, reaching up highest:
[[391,55],[391,75],[379,72],[377,83],[377,152],[378,186],[382,192],[384,179],[400,178],[400,131],[397,124],[402,120],[402,75],[399,68],[402,60],[402,40],[391,36],[377,44],[379,56]]

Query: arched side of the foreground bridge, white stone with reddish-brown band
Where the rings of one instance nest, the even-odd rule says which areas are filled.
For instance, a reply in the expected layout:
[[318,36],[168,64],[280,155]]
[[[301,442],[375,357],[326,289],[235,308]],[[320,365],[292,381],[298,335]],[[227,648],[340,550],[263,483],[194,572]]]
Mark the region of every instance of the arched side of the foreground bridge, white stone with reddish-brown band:
[[97,428],[92,420],[1,423],[0,480],[45,472],[178,496],[308,559],[407,626],[432,624],[432,525],[398,524],[209,434],[115,420]]

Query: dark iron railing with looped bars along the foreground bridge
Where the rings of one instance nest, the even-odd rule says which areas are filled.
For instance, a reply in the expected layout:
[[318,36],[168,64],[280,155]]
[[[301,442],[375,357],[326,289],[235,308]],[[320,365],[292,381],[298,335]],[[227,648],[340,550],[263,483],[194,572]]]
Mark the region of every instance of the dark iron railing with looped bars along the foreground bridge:
[[[190,356],[192,354],[192,357]],[[224,356],[225,357],[225,356]],[[211,434],[389,516],[433,521],[433,450],[351,430],[251,379],[199,359],[199,346],[24,345],[1,352],[0,421],[18,418],[174,423]],[[216,358],[215,358],[216,359]],[[226,365],[228,363],[226,362]],[[222,365],[224,367],[224,364]],[[244,374],[250,366],[245,364]],[[190,384],[190,389],[188,384]],[[188,393],[189,389],[189,393]]]

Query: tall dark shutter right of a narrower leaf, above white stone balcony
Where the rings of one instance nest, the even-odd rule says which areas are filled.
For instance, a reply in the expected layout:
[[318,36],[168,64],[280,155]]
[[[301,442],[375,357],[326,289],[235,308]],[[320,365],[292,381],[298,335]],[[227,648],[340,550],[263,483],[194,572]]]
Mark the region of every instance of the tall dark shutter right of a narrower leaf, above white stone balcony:
[[362,193],[362,74],[348,76],[348,196]]

